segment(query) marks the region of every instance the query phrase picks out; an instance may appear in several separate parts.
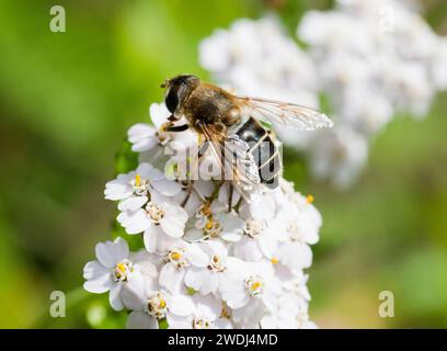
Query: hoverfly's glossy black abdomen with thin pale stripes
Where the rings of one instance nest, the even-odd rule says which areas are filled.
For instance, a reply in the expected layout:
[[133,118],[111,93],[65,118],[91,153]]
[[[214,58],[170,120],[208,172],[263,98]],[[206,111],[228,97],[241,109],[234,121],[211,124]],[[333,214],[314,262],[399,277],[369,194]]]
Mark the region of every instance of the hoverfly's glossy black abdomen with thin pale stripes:
[[250,145],[250,152],[257,165],[261,182],[271,189],[276,188],[282,159],[278,147],[274,143],[274,134],[252,117],[243,122],[236,134]]

